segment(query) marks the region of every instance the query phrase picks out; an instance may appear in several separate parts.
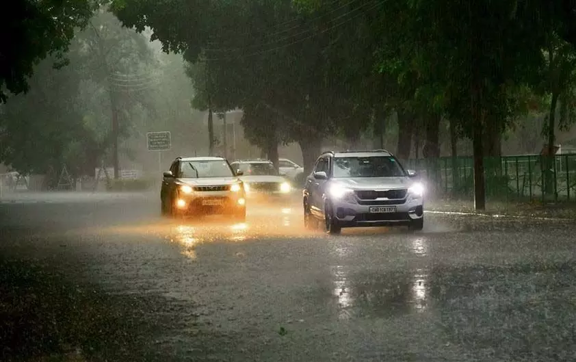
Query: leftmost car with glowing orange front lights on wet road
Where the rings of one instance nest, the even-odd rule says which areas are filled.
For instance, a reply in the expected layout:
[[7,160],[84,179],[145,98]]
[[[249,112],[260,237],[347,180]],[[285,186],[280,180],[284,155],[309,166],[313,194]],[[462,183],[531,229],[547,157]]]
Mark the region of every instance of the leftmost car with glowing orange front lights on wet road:
[[163,215],[228,214],[246,220],[244,184],[222,157],[178,157],[163,173]]

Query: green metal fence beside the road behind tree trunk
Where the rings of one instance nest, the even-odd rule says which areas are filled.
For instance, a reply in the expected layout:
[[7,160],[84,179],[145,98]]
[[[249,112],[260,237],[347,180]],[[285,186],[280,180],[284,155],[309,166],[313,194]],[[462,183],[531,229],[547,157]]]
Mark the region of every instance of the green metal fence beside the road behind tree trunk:
[[[417,170],[438,196],[471,198],[474,190],[472,157],[410,159],[404,166]],[[499,201],[576,201],[576,154],[486,157],[486,197]]]

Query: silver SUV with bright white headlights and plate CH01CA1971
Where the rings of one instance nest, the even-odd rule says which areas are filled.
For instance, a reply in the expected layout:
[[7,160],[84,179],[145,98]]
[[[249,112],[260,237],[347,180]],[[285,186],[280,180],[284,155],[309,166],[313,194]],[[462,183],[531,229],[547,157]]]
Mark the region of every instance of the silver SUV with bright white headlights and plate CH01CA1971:
[[424,187],[385,150],[325,152],[306,179],[304,224],[324,221],[328,233],[343,227],[406,225],[423,228]]

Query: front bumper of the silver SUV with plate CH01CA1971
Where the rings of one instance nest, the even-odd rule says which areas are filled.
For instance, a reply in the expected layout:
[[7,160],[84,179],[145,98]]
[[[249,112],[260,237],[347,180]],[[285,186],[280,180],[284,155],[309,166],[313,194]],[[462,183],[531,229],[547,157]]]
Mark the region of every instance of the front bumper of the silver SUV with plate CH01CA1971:
[[[423,199],[417,198],[402,204],[369,203],[360,205],[346,201],[332,203],[335,218],[341,227],[384,227],[409,225],[423,218]],[[373,207],[384,207],[391,212],[370,212]],[[393,210],[393,211],[392,211]]]

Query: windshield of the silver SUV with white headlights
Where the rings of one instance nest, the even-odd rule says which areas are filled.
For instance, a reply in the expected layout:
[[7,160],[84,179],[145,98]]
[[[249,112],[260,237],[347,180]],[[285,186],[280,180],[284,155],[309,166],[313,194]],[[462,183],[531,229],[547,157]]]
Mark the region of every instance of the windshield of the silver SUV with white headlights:
[[396,159],[391,156],[335,157],[334,177],[402,177],[406,176]]

